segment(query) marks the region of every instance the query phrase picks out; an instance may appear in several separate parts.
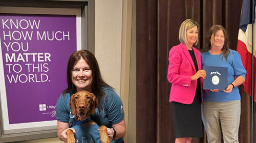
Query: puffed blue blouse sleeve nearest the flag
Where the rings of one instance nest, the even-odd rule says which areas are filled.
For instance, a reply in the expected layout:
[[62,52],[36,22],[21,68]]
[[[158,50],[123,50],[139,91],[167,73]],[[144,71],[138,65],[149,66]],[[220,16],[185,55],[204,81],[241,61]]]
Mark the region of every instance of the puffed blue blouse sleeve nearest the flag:
[[231,50],[230,54],[232,54],[232,67],[234,70],[234,76],[243,76],[245,78],[246,70],[243,66],[240,54],[235,50]]

